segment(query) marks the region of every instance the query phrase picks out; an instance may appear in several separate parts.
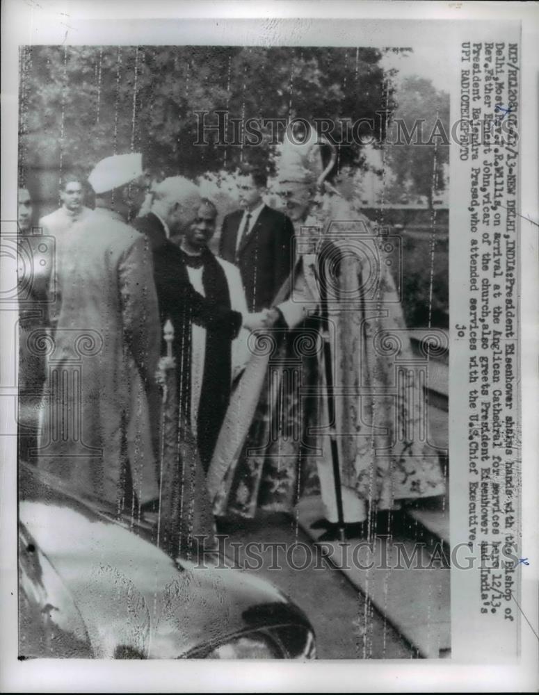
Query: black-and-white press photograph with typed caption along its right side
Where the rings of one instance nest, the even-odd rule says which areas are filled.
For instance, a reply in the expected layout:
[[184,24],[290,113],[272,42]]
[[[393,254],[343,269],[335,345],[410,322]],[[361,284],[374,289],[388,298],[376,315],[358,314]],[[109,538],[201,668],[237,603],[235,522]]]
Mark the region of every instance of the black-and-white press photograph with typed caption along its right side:
[[520,22],[57,14],[2,215],[19,667],[521,658]]

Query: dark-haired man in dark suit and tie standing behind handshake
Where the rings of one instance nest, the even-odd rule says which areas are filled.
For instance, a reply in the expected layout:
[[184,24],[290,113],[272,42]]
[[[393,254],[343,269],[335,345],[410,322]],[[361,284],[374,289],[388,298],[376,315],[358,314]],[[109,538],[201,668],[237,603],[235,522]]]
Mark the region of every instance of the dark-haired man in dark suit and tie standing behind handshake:
[[293,224],[264,204],[267,182],[266,172],[243,167],[241,209],[225,217],[219,241],[221,258],[239,267],[249,311],[272,306],[293,268]]

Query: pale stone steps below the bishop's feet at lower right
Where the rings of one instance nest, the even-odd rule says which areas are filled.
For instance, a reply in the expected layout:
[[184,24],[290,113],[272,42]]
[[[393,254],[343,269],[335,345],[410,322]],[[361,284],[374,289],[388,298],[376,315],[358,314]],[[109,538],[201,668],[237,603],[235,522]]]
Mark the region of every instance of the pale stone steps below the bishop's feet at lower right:
[[344,543],[320,543],[323,530],[311,528],[323,516],[320,498],[301,500],[298,520],[335,571],[361,592],[385,623],[420,657],[439,659],[451,655],[449,548],[438,535],[449,539],[449,510],[440,499],[437,509],[432,502],[430,506],[394,515],[385,521],[386,528]]

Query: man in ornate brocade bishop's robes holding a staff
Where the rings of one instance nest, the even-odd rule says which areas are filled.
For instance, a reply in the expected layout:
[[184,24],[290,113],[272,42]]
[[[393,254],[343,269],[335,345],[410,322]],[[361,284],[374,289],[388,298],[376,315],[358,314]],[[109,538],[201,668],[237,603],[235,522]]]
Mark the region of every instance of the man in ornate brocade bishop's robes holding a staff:
[[[355,534],[362,532],[369,511],[442,495],[444,473],[440,450],[427,436],[421,393],[426,359],[412,355],[396,287],[378,243],[371,243],[368,220],[329,194],[315,213],[319,201],[309,193],[316,190],[312,172],[281,166],[287,213],[308,232],[289,286],[268,313],[275,337],[283,328],[289,334],[280,346],[272,341],[269,360],[263,359],[266,345],[255,350],[245,383],[231,400],[208,484],[218,516],[252,517],[258,509],[291,512],[300,490],[314,491],[316,471],[330,539],[339,525],[337,491],[342,521]],[[328,329],[320,323],[322,304]],[[334,418],[325,341],[337,390]],[[283,377],[294,369],[298,386],[291,388],[293,381]],[[261,395],[253,409],[257,387]],[[243,409],[242,401],[248,403]],[[244,440],[245,425],[250,428]]]

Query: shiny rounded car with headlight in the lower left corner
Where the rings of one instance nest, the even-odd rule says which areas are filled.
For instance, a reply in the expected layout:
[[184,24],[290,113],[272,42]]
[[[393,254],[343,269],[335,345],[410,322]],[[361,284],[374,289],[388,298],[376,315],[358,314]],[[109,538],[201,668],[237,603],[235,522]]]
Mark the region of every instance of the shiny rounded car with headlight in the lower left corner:
[[269,582],[222,557],[175,561],[143,521],[19,471],[20,657],[316,657],[307,617]]

